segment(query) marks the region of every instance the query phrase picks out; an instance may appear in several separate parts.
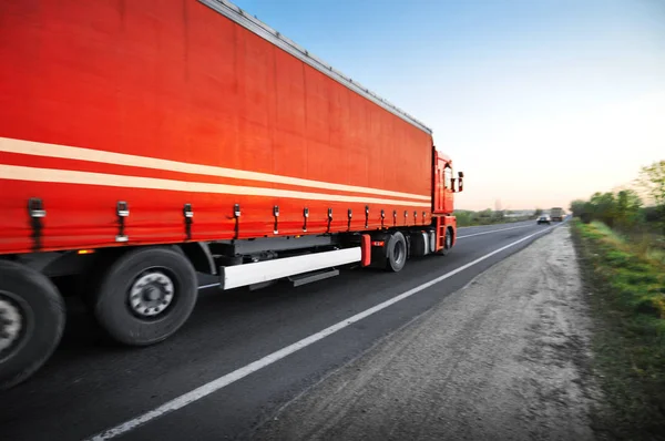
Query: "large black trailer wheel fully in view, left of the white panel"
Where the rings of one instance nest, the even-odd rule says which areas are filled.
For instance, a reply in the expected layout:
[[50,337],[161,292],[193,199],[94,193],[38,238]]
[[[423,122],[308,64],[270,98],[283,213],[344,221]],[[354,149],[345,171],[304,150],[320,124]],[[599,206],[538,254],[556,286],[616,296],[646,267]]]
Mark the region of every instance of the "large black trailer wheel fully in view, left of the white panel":
[[185,256],[168,248],[136,249],[100,277],[92,309],[112,339],[147,346],[184,325],[197,295],[196,271]]

